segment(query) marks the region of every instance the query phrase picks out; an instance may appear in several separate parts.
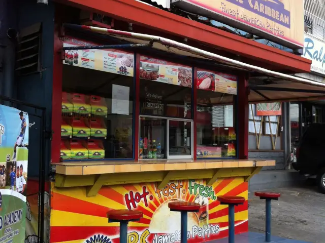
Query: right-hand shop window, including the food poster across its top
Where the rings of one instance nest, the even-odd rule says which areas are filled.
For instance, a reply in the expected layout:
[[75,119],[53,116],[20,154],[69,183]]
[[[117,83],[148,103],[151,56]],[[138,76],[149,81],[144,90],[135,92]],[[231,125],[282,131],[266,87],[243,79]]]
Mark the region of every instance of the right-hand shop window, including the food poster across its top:
[[196,85],[197,157],[236,157],[236,76],[199,70]]

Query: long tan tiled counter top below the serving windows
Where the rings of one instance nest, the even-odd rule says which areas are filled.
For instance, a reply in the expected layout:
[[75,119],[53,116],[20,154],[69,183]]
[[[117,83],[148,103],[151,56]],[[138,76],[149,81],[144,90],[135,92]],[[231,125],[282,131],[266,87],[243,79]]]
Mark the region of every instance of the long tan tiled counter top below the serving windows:
[[112,173],[203,170],[218,168],[275,166],[275,160],[265,159],[200,159],[200,160],[114,160],[71,161],[52,164],[56,173],[62,175],[100,175]]

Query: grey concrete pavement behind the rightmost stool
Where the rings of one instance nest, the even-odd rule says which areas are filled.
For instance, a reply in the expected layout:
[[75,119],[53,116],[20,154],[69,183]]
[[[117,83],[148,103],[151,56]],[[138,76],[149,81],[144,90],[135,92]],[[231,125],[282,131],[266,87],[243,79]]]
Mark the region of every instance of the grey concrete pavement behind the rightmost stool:
[[[272,235],[289,239],[325,242],[325,194],[314,186],[277,188],[272,201]],[[249,193],[249,231],[265,232],[265,200]]]

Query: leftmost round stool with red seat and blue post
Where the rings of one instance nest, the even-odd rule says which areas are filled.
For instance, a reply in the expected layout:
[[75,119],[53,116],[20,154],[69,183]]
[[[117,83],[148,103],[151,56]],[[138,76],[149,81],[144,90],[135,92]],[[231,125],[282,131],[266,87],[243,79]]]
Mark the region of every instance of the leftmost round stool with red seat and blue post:
[[136,210],[111,210],[107,213],[108,222],[120,223],[120,243],[127,243],[127,224],[129,221],[139,221],[143,217],[141,211]]

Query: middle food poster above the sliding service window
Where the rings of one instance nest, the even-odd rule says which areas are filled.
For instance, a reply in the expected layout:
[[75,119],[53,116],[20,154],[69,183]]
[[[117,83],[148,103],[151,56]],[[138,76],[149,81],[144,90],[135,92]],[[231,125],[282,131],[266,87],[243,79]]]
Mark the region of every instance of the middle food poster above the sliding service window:
[[165,60],[141,56],[140,78],[192,87],[192,68]]

